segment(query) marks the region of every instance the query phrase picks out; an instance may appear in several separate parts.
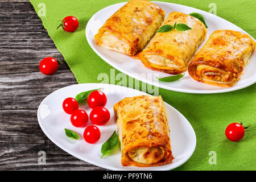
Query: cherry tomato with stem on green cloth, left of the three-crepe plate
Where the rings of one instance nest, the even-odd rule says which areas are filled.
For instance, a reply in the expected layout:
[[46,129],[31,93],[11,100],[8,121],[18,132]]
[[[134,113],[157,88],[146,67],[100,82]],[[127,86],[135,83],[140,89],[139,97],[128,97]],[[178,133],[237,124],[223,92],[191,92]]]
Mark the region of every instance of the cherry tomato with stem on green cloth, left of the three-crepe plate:
[[75,16],[67,16],[62,20],[59,27],[62,27],[67,32],[75,32],[79,27],[79,20]]

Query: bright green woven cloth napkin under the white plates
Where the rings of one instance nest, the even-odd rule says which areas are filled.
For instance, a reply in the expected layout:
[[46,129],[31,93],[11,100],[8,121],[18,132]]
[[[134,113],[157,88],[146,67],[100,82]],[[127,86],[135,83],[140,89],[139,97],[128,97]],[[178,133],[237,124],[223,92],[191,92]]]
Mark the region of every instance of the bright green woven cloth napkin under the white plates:
[[[100,73],[110,75],[113,68],[90,48],[85,38],[86,23],[102,8],[119,3],[119,0],[30,0],[42,19],[49,36],[63,54],[77,82],[101,82]],[[241,27],[256,37],[256,1],[249,0],[173,0],[166,1],[210,10],[215,3],[217,15]],[[42,5],[42,3],[44,3]],[[46,11],[43,11],[43,7]],[[42,16],[44,15],[45,16]],[[73,15],[79,19],[76,32],[56,30],[59,20]],[[256,61],[256,60],[251,60]],[[115,74],[119,71],[115,70]],[[118,81],[117,81],[118,82]],[[117,84],[115,82],[115,84]],[[256,169],[256,84],[245,89],[219,94],[189,94],[159,89],[159,94],[174,106],[191,123],[197,137],[196,150],[191,158],[176,170],[255,170]],[[240,142],[225,137],[229,123],[251,125]],[[216,164],[211,163],[216,154]],[[209,163],[210,161],[210,163]]]

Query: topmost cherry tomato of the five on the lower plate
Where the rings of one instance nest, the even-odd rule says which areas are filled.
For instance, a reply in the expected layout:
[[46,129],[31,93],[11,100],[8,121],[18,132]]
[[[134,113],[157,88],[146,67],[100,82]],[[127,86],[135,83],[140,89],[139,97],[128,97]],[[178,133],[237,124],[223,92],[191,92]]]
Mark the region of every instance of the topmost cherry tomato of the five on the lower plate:
[[107,98],[104,92],[100,90],[94,90],[91,92],[87,98],[87,102],[90,108],[94,108],[97,106],[105,106],[107,102]]

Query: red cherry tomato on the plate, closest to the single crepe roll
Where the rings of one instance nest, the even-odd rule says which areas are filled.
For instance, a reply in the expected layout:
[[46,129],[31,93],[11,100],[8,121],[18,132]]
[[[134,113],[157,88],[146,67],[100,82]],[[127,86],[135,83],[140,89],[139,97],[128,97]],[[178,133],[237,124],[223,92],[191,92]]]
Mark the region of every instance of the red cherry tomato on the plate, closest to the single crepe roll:
[[90,112],[90,121],[92,121],[94,125],[105,125],[109,119],[110,113],[105,107],[97,106]]

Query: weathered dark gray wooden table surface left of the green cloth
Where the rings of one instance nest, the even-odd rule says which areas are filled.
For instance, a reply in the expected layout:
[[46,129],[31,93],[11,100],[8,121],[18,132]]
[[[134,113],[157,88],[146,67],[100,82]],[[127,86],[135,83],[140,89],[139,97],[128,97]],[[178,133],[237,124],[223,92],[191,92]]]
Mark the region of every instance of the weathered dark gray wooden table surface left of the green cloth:
[[[39,71],[47,56],[64,63],[52,76]],[[0,171],[102,170],[61,150],[38,124],[43,98],[76,83],[30,2],[0,0]],[[38,163],[39,151],[46,164]]]

